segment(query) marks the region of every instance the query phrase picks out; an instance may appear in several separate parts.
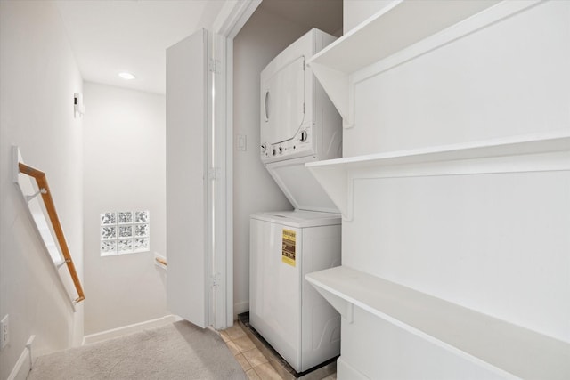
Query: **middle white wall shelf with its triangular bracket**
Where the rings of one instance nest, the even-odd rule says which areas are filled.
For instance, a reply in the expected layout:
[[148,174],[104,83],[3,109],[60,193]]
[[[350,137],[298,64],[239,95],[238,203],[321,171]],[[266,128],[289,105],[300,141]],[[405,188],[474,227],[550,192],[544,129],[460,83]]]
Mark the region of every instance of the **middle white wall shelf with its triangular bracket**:
[[305,164],[346,220],[354,179],[570,170],[570,131],[476,141]]

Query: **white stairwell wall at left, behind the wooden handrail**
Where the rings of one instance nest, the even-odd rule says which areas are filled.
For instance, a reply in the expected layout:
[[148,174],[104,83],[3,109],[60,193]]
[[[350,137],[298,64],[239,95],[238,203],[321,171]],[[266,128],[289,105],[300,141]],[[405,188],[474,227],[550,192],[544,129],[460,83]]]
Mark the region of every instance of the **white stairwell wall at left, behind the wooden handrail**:
[[55,5],[0,2],[0,28],[0,318],[10,315],[11,335],[0,352],[5,379],[30,335],[36,353],[83,337],[83,304],[73,312],[12,183],[11,145],[47,174],[82,278],[83,129],[73,118],[73,93],[82,91],[82,80]]

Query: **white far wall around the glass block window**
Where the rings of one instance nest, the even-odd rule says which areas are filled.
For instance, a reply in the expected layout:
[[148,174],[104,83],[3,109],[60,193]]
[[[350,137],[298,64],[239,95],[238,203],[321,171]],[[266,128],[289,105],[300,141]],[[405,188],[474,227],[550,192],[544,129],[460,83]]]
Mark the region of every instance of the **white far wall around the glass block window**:
[[[165,97],[85,82],[85,335],[167,315]],[[151,212],[151,251],[102,257],[105,211]]]

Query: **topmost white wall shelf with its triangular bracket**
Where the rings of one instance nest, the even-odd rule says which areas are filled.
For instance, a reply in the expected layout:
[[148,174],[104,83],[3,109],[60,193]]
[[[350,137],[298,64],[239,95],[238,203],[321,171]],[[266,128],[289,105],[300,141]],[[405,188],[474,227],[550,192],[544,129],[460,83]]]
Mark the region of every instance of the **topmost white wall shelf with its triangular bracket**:
[[[396,53],[403,53],[392,62],[392,66],[395,66],[533,4],[534,1],[501,4],[494,0],[395,0],[315,54],[309,66],[337,107],[345,126],[349,127],[354,123],[349,109],[352,74],[388,57],[395,57]],[[491,8],[496,9],[484,12]],[[452,30],[461,21],[474,19],[472,16],[478,13],[481,17],[477,20],[469,20],[468,25]],[[444,34],[445,31],[449,33]],[[420,42],[436,35],[441,36],[418,46]],[[414,46],[416,49],[413,49]],[[404,53],[410,49],[413,52]]]

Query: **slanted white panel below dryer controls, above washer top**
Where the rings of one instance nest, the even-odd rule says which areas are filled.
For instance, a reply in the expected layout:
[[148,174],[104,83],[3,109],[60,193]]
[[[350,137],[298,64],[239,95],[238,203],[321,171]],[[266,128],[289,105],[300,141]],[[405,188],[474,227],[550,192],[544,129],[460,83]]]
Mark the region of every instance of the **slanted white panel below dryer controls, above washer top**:
[[305,163],[314,159],[314,157],[288,159],[266,164],[265,167],[297,210],[338,213],[338,208],[322,189],[321,184],[305,167]]

